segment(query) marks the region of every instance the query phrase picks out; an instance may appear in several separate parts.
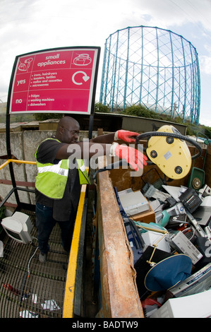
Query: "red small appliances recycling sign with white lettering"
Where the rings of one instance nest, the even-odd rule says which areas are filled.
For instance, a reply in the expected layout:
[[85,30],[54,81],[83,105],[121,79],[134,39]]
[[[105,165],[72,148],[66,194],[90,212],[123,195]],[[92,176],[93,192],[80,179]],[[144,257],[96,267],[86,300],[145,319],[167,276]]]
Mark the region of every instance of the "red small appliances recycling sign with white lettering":
[[49,49],[16,57],[9,113],[90,114],[100,47]]

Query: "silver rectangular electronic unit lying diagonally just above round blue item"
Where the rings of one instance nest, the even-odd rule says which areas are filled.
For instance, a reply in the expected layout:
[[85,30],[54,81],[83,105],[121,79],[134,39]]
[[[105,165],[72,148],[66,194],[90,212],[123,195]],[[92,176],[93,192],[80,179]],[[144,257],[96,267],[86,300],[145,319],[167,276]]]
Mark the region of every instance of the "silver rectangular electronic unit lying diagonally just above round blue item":
[[183,234],[183,232],[177,232],[174,235],[171,235],[169,239],[167,239],[171,247],[176,249],[183,254],[191,257],[193,264],[198,263],[200,259],[203,258],[203,255],[198,251],[198,249],[191,243],[191,241]]

